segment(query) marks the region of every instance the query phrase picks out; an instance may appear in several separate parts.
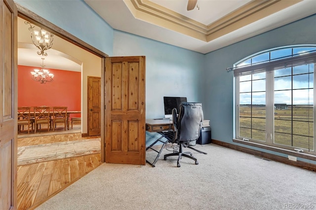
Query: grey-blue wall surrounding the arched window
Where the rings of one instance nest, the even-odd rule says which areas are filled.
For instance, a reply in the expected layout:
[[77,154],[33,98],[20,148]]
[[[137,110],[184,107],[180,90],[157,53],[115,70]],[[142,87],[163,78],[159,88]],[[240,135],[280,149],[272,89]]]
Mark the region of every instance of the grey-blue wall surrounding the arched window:
[[233,114],[234,76],[233,72],[227,72],[226,68],[233,67],[241,59],[256,52],[294,44],[316,44],[316,15],[205,55],[203,77],[205,92],[202,103],[204,116],[210,120],[212,139],[235,144],[232,140],[235,119]]

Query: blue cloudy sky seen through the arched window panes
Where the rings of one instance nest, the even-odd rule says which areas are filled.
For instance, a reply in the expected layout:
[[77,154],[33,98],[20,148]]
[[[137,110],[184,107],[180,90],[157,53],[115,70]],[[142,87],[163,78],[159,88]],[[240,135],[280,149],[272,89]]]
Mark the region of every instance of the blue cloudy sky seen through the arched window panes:
[[[286,48],[281,50],[275,50],[271,52],[265,52],[254,56],[240,65],[255,64],[258,62],[268,61],[271,59],[277,59],[286,57],[289,55],[303,54],[306,51],[315,50],[311,47],[299,47],[299,48]],[[287,105],[314,105],[314,64],[302,65],[292,68],[285,68],[281,70],[275,70],[274,73],[274,103],[275,104],[287,104]],[[240,105],[251,104],[251,76],[252,76],[252,104],[253,105],[265,105],[266,104],[266,72],[240,76]],[[248,81],[247,81],[248,80]],[[293,87],[293,92],[290,90]],[[293,95],[293,100],[292,100]]]

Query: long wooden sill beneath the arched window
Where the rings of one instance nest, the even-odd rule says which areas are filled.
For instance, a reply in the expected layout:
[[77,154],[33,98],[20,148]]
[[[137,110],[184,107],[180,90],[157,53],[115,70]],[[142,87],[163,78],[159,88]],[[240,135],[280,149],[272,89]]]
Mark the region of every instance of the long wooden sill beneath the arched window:
[[316,155],[311,155],[311,154],[307,154],[307,153],[303,153],[303,152],[296,152],[296,151],[289,150],[289,149],[282,149],[282,148],[278,148],[275,146],[270,146],[270,145],[265,145],[265,144],[260,144],[260,143],[256,143],[256,142],[245,141],[245,140],[233,139],[233,142],[316,161]]

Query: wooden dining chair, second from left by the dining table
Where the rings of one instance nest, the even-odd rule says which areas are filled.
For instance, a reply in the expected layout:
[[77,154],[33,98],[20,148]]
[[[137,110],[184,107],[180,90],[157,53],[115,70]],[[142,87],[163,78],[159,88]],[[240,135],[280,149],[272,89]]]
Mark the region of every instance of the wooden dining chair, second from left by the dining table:
[[46,124],[47,132],[49,132],[49,127],[51,126],[50,119],[50,106],[34,106],[34,133],[39,130],[39,125]]

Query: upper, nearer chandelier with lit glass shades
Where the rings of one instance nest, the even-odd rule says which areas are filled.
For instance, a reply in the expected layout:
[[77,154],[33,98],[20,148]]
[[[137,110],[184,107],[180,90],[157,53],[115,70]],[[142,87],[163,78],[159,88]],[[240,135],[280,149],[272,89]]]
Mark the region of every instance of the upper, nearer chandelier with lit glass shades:
[[39,31],[36,31],[34,30],[35,26],[32,26],[30,22],[25,21],[24,23],[26,25],[30,25],[29,31],[31,32],[32,42],[37,48],[40,49],[40,52],[38,51],[38,54],[47,56],[47,53],[44,51],[50,49],[53,45],[53,34],[48,33],[41,28]]

